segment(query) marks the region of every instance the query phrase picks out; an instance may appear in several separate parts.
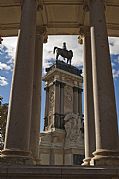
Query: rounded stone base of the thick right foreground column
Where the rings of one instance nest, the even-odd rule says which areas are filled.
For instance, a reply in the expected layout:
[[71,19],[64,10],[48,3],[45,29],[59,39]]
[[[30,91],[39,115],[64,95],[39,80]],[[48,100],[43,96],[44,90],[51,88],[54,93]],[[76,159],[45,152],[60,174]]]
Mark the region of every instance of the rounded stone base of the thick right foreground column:
[[93,153],[91,165],[94,166],[119,166],[119,151],[114,150],[96,150]]

